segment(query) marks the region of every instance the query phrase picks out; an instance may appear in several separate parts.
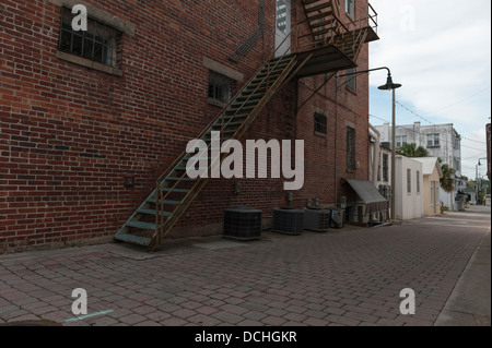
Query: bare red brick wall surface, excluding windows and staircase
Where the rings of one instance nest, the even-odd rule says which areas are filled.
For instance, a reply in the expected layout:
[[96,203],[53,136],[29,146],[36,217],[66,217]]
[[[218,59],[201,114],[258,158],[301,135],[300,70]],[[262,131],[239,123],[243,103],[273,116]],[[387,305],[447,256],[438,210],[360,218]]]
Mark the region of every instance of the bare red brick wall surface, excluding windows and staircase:
[[[274,46],[271,0],[262,39],[238,63],[227,57],[258,25],[257,1],[87,0],[136,26],[133,36],[124,34],[122,76],[116,76],[56,58],[61,13],[56,2],[0,4],[0,253],[112,240],[155,178],[220,112],[207,101],[203,57],[247,81]],[[293,3],[295,17],[300,4]],[[361,69],[367,55],[364,48]],[[333,81],[296,112],[297,97],[321,80],[291,82],[244,136],[306,141],[306,184],[294,193],[295,206],[306,197],[335,203],[335,158],[337,178],[368,176],[367,77],[359,77],[356,95],[342,88],[338,130]],[[314,134],[316,109],[329,116],[326,137]],[[354,172],[344,168],[345,121],[356,125],[361,166]],[[126,176],[136,177],[136,188],[125,188]],[[218,232],[203,226],[220,224],[229,206],[270,215],[286,205],[283,179],[239,181],[235,195],[235,180],[211,180],[172,237]],[[337,189],[338,196],[345,194],[344,187]]]

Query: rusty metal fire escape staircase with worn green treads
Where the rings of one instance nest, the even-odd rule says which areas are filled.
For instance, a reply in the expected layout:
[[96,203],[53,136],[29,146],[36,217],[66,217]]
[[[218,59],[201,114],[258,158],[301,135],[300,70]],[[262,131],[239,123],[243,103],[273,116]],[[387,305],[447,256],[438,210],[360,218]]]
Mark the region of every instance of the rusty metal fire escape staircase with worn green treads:
[[[156,181],[155,190],[140,205],[115,236],[117,241],[143,245],[154,251],[175,226],[179,217],[203,189],[216,158],[210,158],[212,132],[220,132],[221,141],[238,140],[255,121],[268,101],[292,79],[333,72],[354,65],[366,33],[349,31],[338,20],[333,3],[338,0],[304,0],[307,20],[292,29],[298,33],[308,23],[314,39],[307,46],[288,50],[281,57],[276,52],[232,98],[221,113],[197,136],[208,146],[209,176],[191,179],[186,168],[195,154],[183,153]],[[323,25],[321,25],[323,23]],[[356,33],[355,33],[356,32]],[[282,43],[283,44],[283,43]],[[282,44],[279,46],[281,47]],[[225,155],[222,155],[225,156]],[[219,159],[220,161],[222,158]],[[220,164],[219,164],[220,165]]]

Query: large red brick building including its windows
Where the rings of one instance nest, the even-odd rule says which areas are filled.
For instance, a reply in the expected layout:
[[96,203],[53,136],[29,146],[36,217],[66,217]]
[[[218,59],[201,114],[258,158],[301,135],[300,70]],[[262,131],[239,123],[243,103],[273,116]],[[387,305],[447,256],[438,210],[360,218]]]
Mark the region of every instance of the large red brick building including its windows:
[[[71,26],[75,4],[86,32]],[[333,77],[368,68],[365,0],[0,7],[0,253],[107,242],[132,216],[151,224],[157,178],[218,115],[238,115],[229,103],[247,115],[224,135],[305,141],[304,188],[290,202],[284,179],[212,179],[179,199],[167,237],[220,233],[231,206],[335,205],[350,194],[343,178],[368,179],[368,77],[343,85],[338,107]]]

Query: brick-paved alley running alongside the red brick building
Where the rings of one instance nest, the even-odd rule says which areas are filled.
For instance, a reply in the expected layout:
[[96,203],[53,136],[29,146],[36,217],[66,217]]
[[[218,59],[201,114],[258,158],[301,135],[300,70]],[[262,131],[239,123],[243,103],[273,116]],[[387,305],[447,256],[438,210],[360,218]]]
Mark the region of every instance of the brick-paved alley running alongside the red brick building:
[[[483,208],[249,243],[169,241],[154,254],[108,244],[3,255],[0,324],[433,325],[489,228]],[[94,316],[70,321],[75,288]],[[417,293],[413,316],[399,312],[403,288]]]

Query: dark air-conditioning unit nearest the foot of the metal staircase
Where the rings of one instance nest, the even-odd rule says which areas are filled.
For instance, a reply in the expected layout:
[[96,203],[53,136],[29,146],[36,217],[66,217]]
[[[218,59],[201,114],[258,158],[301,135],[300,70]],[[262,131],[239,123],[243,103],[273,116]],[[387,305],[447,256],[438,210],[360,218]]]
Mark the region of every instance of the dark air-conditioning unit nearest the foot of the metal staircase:
[[225,238],[255,240],[261,238],[262,212],[246,206],[224,211]]

